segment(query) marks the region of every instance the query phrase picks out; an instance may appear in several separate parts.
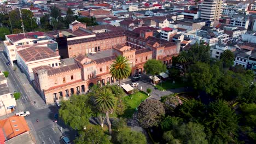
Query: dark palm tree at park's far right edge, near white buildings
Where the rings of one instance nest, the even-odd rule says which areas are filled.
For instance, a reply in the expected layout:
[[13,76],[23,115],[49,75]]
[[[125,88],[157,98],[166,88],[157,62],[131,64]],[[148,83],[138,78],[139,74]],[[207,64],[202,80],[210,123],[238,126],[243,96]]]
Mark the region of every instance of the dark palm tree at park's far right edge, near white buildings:
[[234,62],[234,53],[230,50],[224,50],[221,54],[220,54],[220,59],[222,59],[222,61],[224,62],[224,68],[226,67],[231,67],[233,65]]

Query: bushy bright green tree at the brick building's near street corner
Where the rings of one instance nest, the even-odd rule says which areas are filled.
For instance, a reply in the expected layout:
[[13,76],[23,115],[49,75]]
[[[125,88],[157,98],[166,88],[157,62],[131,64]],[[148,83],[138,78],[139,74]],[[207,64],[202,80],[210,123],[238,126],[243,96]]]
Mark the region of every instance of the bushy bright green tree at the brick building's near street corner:
[[70,100],[62,100],[60,117],[71,128],[82,130],[89,123],[92,114],[88,103],[86,95],[73,95]]

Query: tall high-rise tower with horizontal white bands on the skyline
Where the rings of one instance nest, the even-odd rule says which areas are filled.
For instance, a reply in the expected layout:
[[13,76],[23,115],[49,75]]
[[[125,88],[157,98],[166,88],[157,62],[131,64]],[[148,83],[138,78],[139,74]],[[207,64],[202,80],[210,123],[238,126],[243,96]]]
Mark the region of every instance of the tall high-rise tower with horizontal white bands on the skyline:
[[223,0],[205,0],[201,7],[201,20],[206,20],[210,26],[218,23],[219,17],[222,14],[222,1]]

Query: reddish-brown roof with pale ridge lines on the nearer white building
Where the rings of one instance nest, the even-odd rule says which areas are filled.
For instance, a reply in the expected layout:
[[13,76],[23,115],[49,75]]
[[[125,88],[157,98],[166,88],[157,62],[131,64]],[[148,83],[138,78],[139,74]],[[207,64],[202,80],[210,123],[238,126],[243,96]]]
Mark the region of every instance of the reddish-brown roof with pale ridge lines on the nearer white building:
[[[32,46],[27,49],[17,51],[25,62],[37,61],[40,59],[58,57],[59,55],[51,50],[49,47],[44,46]],[[59,56],[60,57],[60,56]]]

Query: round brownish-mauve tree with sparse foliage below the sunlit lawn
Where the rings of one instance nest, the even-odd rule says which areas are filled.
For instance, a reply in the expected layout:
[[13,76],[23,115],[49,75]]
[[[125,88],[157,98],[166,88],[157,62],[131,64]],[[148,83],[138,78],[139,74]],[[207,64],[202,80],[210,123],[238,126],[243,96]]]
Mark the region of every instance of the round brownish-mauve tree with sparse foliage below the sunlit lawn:
[[138,107],[138,119],[143,128],[157,126],[165,115],[165,109],[159,100],[147,99]]

